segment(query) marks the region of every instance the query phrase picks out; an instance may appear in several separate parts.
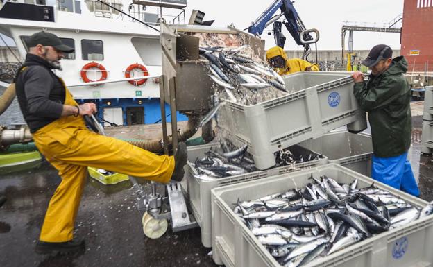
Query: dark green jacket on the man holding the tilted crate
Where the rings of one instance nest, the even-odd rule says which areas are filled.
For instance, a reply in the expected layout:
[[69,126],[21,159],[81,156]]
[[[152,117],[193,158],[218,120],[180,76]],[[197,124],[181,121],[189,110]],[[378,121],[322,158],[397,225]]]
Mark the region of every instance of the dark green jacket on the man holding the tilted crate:
[[393,59],[387,71],[354,85],[359,105],[368,112],[376,157],[402,155],[410,147],[411,92],[403,76],[406,71],[407,61],[400,56]]

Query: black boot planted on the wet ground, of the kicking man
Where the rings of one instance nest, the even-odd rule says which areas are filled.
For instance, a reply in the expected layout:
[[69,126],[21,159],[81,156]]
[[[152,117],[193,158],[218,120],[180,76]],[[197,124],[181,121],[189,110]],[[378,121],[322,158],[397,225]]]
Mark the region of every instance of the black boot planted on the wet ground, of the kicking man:
[[35,252],[38,254],[74,254],[85,251],[85,242],[83,239],[70,240],[66,242],[44,242],[37,241]]

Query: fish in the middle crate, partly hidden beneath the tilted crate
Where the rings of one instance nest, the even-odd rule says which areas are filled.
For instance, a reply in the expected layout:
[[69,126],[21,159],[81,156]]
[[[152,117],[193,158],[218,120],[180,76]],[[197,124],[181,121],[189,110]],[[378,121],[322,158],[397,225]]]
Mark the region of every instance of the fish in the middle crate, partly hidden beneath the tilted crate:
[[[196,178],[201,180],[214,180],[217,178],[225,178],[232,175],[241,175],[257,171],[254,160],[251,155],[246,152],[248,146],[234,149],[235,147],[226,139],[220,139],[221,146],[210,148],[204,153],[204,157],[197,157],[194,163],[191,163],[196,170]],[[322,156],[316,153],[308,155],[296,155],[291,152],[291,149],[286,148],[276,153],[275,167],[287,166],[319,160]]]

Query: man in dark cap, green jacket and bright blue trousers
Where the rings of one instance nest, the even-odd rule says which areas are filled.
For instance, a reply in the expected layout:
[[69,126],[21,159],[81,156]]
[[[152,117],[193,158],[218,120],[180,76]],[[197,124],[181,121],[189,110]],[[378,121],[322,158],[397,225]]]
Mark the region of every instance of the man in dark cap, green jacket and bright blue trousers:
[[404,76],[407,60],[392,58],[386,44],[371,49],[362,62],[371,69],[368,82],[361,72],[352,74],[353,93],[368,112],[373,141],[371,178],[419,196],[407,152],[411,144],[411,91]]

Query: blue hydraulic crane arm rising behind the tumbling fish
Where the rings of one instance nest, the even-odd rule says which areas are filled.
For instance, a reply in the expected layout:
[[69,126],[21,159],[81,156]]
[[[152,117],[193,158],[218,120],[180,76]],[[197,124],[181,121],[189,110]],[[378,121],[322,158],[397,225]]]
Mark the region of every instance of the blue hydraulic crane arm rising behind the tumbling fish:
[[[275,12],[281,10],[281,13],[274,15]],[[285,21],[278,21],[280,17],[284,16]],[[296,44],[304,47],[304,56],[309,54],[309,44],[316,43],[319,40],[319,31],[317,30],[307,30],[303,21],[298,16],[298,12],[290,0],[275,0],[271,3],[271,6],[267,8],[260,17],[248,27],[248,32],[254,35],[262,35],[264,29],[273,24],[273,37],[275,39],[275,44],[284,48],[286,37],[282,34],[282,24],[287,28],[287,31],[294,38]],[[314,39],[311,32],[316,33],[316,38]]]

